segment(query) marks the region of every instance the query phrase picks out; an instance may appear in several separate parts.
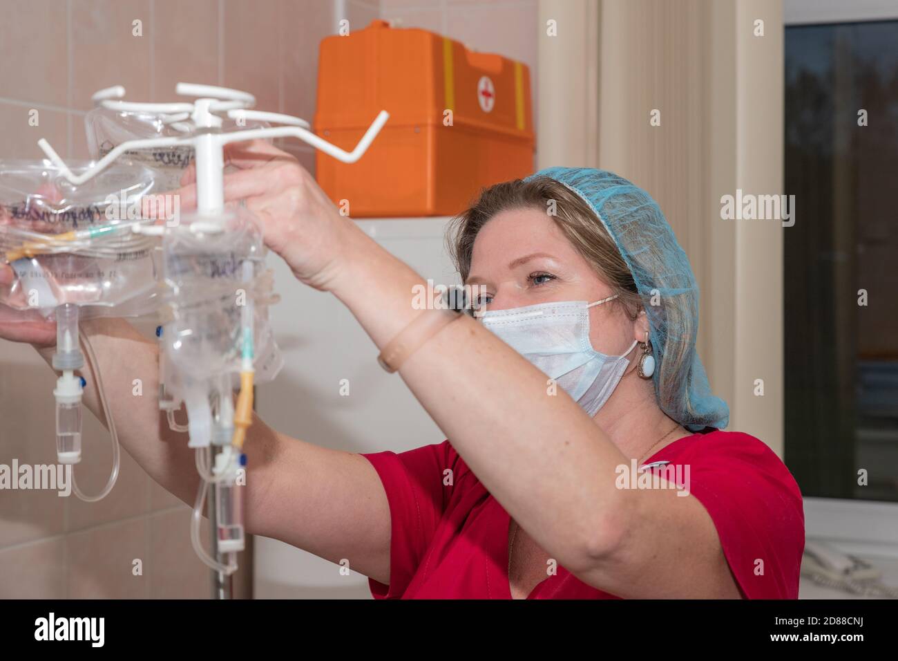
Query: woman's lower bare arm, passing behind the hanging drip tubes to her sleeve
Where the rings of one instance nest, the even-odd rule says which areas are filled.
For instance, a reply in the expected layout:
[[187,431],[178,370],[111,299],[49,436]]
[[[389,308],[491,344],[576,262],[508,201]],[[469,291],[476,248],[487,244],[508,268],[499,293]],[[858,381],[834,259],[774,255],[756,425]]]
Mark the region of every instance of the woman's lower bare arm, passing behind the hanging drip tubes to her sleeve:
[[[151,478],[193,505],[199,487],[194,451],[187,434],[173,432],[160,415],[157,344],[122,319],[88,320],[82,328],[100,363],[93,369],[101,373],[122,447]],[[54,351],[39,349],[47,362]],[[94,374],[86,364],[81,373],[84,406],[108,427]],[[183,415],[178,417],[186,422]],[[348,558],[366,576],[388,580],[390,512],[380,479],[364,458],[277,433],[257,415],[243,451],[248,532],[334,562]]]

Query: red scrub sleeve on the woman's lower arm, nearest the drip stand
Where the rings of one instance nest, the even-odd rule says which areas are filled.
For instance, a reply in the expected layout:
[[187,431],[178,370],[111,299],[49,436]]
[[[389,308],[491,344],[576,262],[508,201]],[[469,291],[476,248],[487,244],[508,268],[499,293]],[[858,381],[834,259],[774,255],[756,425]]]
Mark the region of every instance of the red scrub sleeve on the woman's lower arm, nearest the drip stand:
[[383,483],[390,504],[390,585],[368,579],[377,599],[397,599],[405,593],[445,511],[445,469],[453,468],[448,441],[396,454],[363,454]]

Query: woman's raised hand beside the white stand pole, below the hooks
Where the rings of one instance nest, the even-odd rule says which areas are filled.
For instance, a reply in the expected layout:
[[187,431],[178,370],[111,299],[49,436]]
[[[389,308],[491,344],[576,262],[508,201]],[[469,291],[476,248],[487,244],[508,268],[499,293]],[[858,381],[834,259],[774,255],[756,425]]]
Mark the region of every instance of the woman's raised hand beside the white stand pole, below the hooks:
[[[295,276],[318,290],[333,290],[343,272],[350,237],[360,234],[294,156],[264,140],[225,146],[225,202],[245,200],[262,223],[266,246],[284,258]],[[196,170],[181,179],[182,209],[196,207]]]

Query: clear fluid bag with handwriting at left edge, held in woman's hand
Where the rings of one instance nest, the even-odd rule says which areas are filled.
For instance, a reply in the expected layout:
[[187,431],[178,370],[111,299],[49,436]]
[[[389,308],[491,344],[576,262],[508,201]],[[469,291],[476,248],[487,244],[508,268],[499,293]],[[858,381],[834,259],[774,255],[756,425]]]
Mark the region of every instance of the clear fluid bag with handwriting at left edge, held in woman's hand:
[[139,165],[110,166],[75,186],[46,161],[0,162],[0,263],[13,271],[0,282],[4,320],[48,318],[64,303],[85,318],[154,311],[161,242],[133,230],[153,222],[139,214],[152,192],[154,173]]

